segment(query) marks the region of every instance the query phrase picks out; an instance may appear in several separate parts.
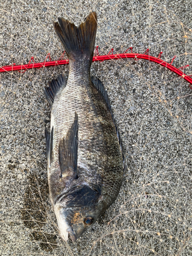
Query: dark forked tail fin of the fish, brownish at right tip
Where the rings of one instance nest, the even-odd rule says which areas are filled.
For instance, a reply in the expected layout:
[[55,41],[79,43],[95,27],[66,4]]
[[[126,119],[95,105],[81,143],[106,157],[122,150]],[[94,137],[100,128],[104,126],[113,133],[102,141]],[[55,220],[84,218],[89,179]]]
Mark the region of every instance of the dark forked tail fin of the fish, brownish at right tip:
[[79,27],[70,23],[69,20],[58,18],[54,29],[66,50],[69,60],[87,58],[92,61],[95,37],[97,31],[97,15],[91,12],[86,21]]

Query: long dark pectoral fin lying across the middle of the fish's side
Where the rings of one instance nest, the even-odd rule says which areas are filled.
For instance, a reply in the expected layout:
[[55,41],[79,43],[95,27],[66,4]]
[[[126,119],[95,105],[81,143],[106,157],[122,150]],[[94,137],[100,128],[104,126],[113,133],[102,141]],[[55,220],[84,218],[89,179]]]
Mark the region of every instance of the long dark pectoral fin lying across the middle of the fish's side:
[[59,165],[61,176],[69,168],[77,174],[77,149],[78,149],[78,115],[75,112],[75,120],[65,138],[59,143]]

